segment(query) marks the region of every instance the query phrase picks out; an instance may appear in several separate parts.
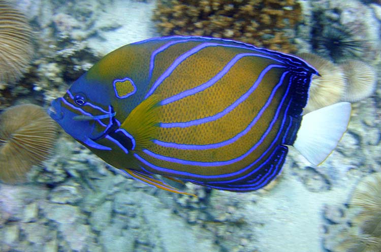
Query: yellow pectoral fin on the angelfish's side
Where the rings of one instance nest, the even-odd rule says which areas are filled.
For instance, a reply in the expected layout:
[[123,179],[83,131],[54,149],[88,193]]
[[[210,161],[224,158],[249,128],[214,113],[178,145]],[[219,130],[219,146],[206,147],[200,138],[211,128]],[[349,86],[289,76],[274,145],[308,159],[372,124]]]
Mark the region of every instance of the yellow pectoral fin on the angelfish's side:
[[158,98],[151,95],[142,101],[120,125],[136,141],[135,150],[147,148],[150,140],[156,136],[158,127]]

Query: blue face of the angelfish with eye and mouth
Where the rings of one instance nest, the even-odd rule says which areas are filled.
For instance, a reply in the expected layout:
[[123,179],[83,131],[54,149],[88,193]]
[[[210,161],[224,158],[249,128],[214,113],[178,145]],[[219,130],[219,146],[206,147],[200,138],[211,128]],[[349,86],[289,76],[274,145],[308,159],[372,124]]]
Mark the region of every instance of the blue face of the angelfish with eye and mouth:
[[63,97],[51,102],[48,114],[63,130],[84,145],[98,150],[111,150],[97,143],[120,126],[115,118],[113,94],[109,96],[108,89],[107,85],[97,80],[89,80],[85,74],[73,83]]

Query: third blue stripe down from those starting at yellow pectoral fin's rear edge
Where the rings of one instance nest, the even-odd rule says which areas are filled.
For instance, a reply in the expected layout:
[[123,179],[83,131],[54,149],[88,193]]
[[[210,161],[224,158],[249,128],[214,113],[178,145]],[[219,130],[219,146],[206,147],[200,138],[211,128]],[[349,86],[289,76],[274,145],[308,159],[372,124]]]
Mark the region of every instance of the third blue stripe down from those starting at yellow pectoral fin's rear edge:
[[182,143],[165,142],[165,141],[161,141],[161,140],[157,140],[157,139],[153,139],[152,142],[156,143],[156,145],[160,145],[163,147],[176,148],[176,149],[181,149],[181,150],[207,150],[207,149],[215,149],[215,148],[220,148],[220,147],[223,147],[226,145],[230,145],[231,143],[238,140],[240,137],[244,136],[247,132],[249,132],[251,130],[251,128],[258,122],[258,120],[262,117],[262,114],[265,112],[267,107],[270,105],[272,99],[274,98],[276,91],[283,84],[283,80],[288,73],[289,72],[284,72],[282,74],[280,81],[272,90],[272,92],[271,92],[269,98],[267,99],[265,105],[261,108],[261,110],[258,112],[258,114],[253,118],[253,120],[247,125],[247,127],[244,130],[242,130],[241,132],[239,132],[237,135],[235,135],[234,137],[232,137],[228,140],[225,140],[225,141],[210,143],[209,145],[186,145],[186,144],[182,144]]

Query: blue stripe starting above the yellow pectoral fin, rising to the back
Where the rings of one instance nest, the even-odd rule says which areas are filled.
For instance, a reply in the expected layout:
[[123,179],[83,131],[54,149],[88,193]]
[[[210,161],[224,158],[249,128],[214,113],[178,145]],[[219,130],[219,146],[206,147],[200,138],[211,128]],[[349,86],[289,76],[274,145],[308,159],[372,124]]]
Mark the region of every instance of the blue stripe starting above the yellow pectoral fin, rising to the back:
[[[174,69],[176,69],[176,67],[181,63],[183,62],[184,60],[186,60],[189,56],[192,56],[193,54],[196,54],[198,53],[199,51],[201,51],[202,49],[204,48],[207,48],[207,47],[233,47],[233,48],[241,48],[241,49],[247,49],[246,47],[242,47],[242,46],[236,46],[236,45],[223,45],[223,44],[217,44],[217,43],[203,43],[201,45],[198,45],[196,46],[195,48],[193,49],[190,49],[189,51],[187,51],[186,53],[180,55],[178,58],[176,58],[173,63],[167,68],[167,70],[164,71],[164,73],[159,77],[157,78],[157,80],[152,84],[152,87],[150,88],[150,90],[147,92],[146,96],[144,97],[145,99],[150,96],[158,86],[160,86],[162,84],[162,82],[167,79],[173,72]],[[264,57],[264,56],[263,56]],[[271,58],[272,60],[274,61],[277,61],[279,63],[283,63],[282,61],[280,60],[277,60],[275,58]],[[290,66],[289,66],[290,67]]]

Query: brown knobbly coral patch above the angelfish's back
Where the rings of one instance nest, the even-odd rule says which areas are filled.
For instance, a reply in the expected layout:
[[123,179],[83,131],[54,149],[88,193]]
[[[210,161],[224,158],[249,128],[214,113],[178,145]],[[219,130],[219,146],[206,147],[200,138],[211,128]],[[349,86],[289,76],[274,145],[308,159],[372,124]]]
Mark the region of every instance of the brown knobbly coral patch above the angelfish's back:
[[153,19],[163,35],[203,35],[234,39],[272,50],[293,52],[297,1],[158,1]]

